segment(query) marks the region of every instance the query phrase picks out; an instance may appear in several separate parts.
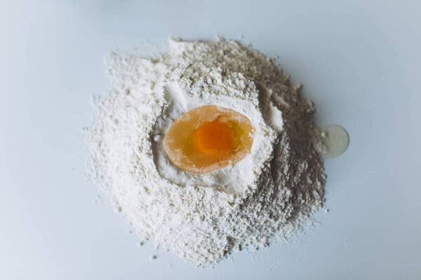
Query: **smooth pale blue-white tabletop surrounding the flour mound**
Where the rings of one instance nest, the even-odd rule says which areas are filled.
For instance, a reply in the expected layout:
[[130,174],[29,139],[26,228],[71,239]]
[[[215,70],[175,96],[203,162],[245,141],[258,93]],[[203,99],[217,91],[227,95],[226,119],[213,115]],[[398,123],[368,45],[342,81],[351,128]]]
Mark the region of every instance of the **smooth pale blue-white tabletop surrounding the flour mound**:
[[[421,279],[420,1],[1,1],[0,279]],[[87,182],[103,57],[222,34],[278,55],[347,128],[326,160],[321,224],[298,241],[196,268],[139,247]],[[169,267],[169,264],[173,264]]]

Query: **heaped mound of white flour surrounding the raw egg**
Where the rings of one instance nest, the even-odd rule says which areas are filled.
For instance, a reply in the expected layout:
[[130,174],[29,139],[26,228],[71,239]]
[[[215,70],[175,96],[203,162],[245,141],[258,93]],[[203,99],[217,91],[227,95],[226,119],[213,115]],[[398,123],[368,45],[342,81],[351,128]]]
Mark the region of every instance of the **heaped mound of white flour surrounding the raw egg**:
[[[140,242],[208,264],[299,230],[322,206],[314,106],[260,52],[223,38],[170,41],[152,57],[112,53],[107,68],[113,89],[95,102],[88,170]],[[207,104],[247,116],[252,151],[233,167],[184,172],[163,152],[163,134]]]

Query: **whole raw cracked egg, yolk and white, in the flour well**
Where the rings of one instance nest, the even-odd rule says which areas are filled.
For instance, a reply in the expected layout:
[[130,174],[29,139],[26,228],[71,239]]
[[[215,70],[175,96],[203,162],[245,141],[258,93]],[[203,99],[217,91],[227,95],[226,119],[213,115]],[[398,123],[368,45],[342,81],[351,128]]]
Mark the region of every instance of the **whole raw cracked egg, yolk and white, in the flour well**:
[[163,148],[173,165],[203,174],[246,158],[253,146],[253,131],[243,114],[206,105],[176,118],[163,137]]

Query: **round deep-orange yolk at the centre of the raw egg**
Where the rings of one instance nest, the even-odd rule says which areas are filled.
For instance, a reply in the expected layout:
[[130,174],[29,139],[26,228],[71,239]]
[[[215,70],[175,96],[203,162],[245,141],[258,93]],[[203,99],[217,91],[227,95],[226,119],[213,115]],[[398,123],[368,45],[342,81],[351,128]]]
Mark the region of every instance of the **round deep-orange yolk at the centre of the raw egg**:
[[225,123],[214,120],[194,130],[192,142],[197,152],[218,155],[233,148],[233,132]]

